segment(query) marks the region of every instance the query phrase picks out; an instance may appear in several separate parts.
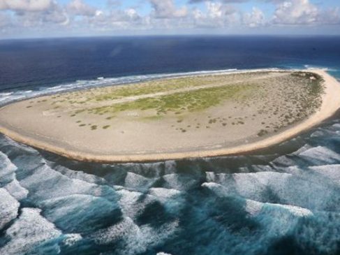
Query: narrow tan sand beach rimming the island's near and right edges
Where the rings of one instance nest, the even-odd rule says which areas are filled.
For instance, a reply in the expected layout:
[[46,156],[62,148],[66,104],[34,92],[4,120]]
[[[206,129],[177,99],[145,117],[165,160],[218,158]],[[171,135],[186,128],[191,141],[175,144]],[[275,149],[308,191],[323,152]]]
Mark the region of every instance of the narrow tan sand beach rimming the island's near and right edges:
[[[262,69],[258,70],[262,71]],[[286,70],[277,70],[286,71]],[[40,150],[46,150],[54,154],[59,154],[65,156],[69,159],[74,159],[77,161],[91,161],[100,163],[127,163],[127,162],[147,162],[147,161],[165,161],[165,160],[175,160],[175,159],[189,159],[189,158],[199,158],[199,157],[214,157],[214,156],[227,156],[235,154],[246,154],[249,152],[255,152],[257,150],[263,150],[272,145],[282,143],[283,141],[289,140],[297,136],[299,133],[307,131],[308,129],[317,126],[325,119],[328,119],[334,115],[340,108],[340,100],[338,95],[340,95],[340,84],[333,78],[330,74],[323,70],[302,70],[311,73],[316,73],[321,75],[325,80],[325,92],[323,94],[323,103],[320,110],[315,112],[313,115],[304,119],[301,123],[296,124],[285,131],[274,134],[262,140],[258,140],[253,143],[248,143],[244,145],[237,145],[235,147],[225,147],[212,150],[192,150],[188,152],[168,152],[168,153],[151,153],[151,154],[126,154],[126,155],[99,155],[95,153],[81,152],[77,150],[68,150],[65,147],[59,147],[55,145],[50,145],[44,141],[38,140],[36,138],[31,138],[29,136],[24,136],[17,131],[10,130],[6,127],[1,126],[0,123],[0,133],[12,138],[13,140],[24,143],[31,147],[36,147]],[[237,72],[237,71],[236,71]],[[244,71],[244,73],[249,71]],[[256,72],[256,70],[250,71]],[[62,92],[61,92],[62,93]],[[10,104],[9,104],[10,105]],[[1,109],[6,108],[7,105],[3,106]]]

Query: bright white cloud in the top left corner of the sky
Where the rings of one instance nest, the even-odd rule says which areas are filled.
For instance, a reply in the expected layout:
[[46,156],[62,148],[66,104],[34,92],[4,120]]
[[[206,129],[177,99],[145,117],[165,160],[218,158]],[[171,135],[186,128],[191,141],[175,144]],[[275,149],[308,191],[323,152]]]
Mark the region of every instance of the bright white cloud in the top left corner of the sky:
[[51,8],[52,0],[0,0],[0,10],[42,11]]

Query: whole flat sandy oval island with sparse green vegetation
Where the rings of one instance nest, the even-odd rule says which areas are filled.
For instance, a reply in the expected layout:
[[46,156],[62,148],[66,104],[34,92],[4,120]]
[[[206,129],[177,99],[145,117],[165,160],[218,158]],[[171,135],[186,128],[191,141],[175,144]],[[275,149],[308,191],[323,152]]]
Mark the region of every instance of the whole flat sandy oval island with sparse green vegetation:
[[340,108],[323,70],[254,70],[94,87],[0,108],[0,132],[79,161],[242,154],[306,131]]

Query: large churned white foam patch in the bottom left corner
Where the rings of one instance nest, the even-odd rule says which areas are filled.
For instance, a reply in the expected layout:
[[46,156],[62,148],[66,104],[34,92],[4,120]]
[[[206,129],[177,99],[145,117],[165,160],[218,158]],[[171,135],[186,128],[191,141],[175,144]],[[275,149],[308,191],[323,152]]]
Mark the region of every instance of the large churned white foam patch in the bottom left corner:
[[0,254],[27,254],[35,245],[58,238],[59,235],[61,231],[42,217],[40,210],[24,208],[19,219],[6,230],[6,238],[10,238],[10,242],[0,248]]

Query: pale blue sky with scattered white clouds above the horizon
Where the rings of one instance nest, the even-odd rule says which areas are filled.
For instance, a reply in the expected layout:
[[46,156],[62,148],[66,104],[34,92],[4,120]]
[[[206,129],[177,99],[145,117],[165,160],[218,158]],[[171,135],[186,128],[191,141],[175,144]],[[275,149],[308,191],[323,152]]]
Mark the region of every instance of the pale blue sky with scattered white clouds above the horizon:
[[0,0],[1,38],[340,35],[340,0]]

